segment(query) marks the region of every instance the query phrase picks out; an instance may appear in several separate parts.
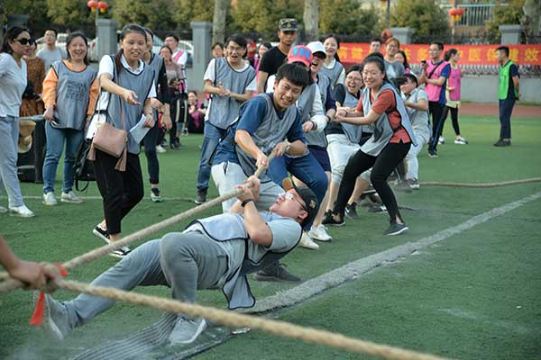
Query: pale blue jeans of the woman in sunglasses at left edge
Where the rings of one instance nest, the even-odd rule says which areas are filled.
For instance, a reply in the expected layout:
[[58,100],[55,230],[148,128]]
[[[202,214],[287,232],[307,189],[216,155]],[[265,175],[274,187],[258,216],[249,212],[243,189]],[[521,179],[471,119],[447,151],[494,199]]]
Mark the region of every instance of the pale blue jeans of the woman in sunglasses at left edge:
[[18,141],[19,118],[0,116],[0,191],[5,187],[10,208],[23,205],[17,177]]

